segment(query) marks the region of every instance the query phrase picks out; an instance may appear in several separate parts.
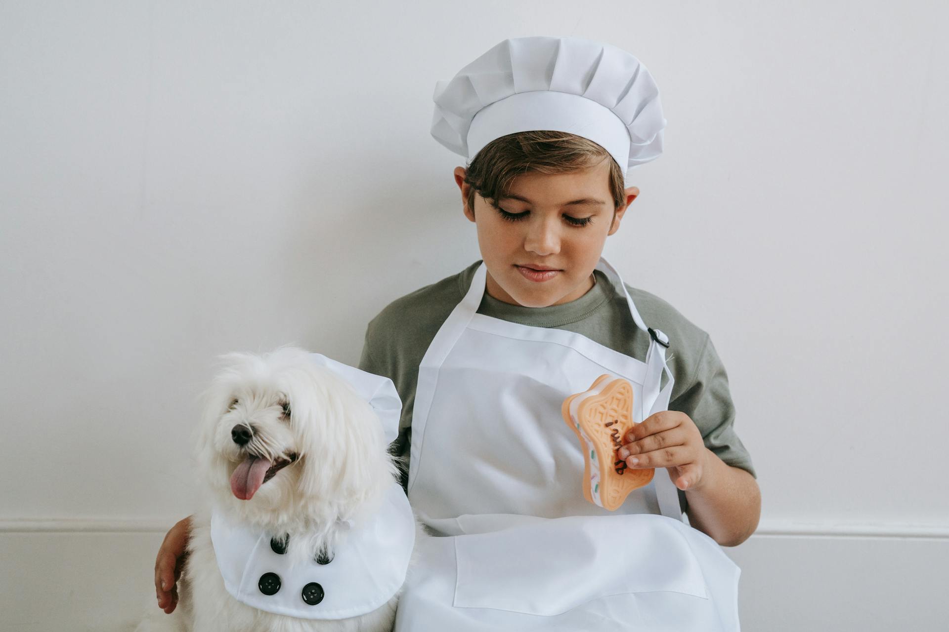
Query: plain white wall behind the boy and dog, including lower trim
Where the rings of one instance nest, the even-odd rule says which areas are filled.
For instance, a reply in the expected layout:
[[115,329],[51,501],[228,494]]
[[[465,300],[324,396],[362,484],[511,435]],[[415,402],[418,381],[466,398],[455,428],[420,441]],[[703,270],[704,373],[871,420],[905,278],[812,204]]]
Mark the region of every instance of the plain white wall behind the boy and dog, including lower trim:
[[432,92],[537,34],[621,45],[660,85],[665,153],[634,172],[605,255],[728,368],[764,497],[729,551],[745,629],[936,629],[947,18],[876,0],[0,3],[4,629],[119,629],[150,602],[160,533],[192,509],[215,354],[292,341],[356,363],[381,307],[478,258]]

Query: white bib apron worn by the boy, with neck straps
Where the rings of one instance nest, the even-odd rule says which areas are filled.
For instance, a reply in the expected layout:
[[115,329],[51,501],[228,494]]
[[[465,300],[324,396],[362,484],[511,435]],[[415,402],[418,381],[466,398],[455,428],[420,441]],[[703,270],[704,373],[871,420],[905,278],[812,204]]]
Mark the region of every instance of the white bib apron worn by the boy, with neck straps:
[[664,470],[616,512],[583,495],[564,400],[612,373],[632,384],[640,423],[668,408],[674,383],[668,338],[645,326],[609,263],[597,269],[649,332],[645,362],[581,334],[477,314],[483,262],[425,352],[408,497],[442,537],[419,542],[396,630],[738,629],[739,569],[682,522]]

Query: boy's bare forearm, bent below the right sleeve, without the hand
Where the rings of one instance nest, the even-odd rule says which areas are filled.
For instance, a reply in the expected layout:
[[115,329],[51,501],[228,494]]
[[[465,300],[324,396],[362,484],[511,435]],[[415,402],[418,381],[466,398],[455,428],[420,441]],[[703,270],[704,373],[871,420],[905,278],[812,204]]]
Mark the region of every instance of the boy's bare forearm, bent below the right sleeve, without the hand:
[[685,492],[689,523],[718,544],[735,547],[757,529],[761,492],[751,474],[726,464],[711,450],[707,456],[702,484]]

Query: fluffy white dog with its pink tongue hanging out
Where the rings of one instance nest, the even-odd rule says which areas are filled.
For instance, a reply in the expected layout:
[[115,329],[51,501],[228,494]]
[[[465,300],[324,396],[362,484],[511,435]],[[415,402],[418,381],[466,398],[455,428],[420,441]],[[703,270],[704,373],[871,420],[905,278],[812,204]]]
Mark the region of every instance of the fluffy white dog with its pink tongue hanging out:
[[[165,615],[155,613],[153,606],[140,623],[139,632],[392,629],[401,587],[391,598],[387,592],[382,593],[387,601],[358,616],[300,618],[292,611],[277,614],[235,599],[233,590],[225,586],[224,567],[219,567],[215,556],[213,512],[215,520],[225,516],[247,533],[275,534],[270,547],[280,553],[279,561],[310,573],[328,572],[333,565],[319,565],[328,564],[327,559],[334,561],[334,551],[345,551],[350,533],[356,533],[356,527],[366,524],[371,516],[381,515],[377,512],[386,498],[391,504],[398,470],[388,454],[379,418],[347,382],[307,356],[307,352],[294,347],[263,355],[234,352],[221,356],[225,366],[206,391],[206,410],[196,433],[199,482],[207,502],[193,518],[178,607]],[[405,508],[408,511],[407,503]],[[414,517],[408,529],[415,533],[418,551],[419,539],[425,533]],[[388,526],[377,527],[373,533],[388,530]],[[222,551],[223,537],[218,534],[215,540]],[[261,551],[265,548],[260,544],[266,542],[264,537],[270,535],[257,540],[257,554],[271,555],[270,551]],[[239,540],[237,535],[228,538]],[[400,541],[406,539],[401,537]],[[361,551],[373,551],[371,545],[366,544],[368,548]],[[386,563],[388,550],[377,548],[375,553],[380,551],[381,555],[373,555],[373,566]],[[407,562],[409,567],[415,551]],[[408,553],[404,557],[408,559]],[[314,564],[317,560],[319,565]],[[344,559],[336,562],[336,571],[346,570],[341,568]],[[235,568],[245,569],[239,565]],[[356,583],[350,584],[360,586],[361,577],[357,573],[353,580]],[[279,578],[269,583],[261,576],[259,593],[256,577],[251,577],[249,583],[241,582],[244,584],[250,586],[252,599],[266,599],[260,593],[270,595],[276,588],[285,591],[282,597],[294,596],[302,608],[307,608],[303,600],[312,604],[315,599],[323,600],[324,595],[324,587],[319,584],[307,585],[301,600],[301,587],[290,586],[286,575],[285,586],[279,585]],[[331,602],[332,589],[326,587],[326,603]],[[339,592],[333,596],[340,598]]]

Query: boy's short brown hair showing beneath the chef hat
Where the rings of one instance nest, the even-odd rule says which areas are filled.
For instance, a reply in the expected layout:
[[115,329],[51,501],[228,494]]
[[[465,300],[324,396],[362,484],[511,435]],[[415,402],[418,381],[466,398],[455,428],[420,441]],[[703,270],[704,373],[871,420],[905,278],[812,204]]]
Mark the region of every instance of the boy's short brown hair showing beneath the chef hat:
[[609,160],[609,191],[613,217],[626,201],[623,171],[606,150],[592,140],[567,132],[518,132],[495,138],[468,165],[465,182],[471,186],[468,208],[474,213],[474,193],[488,204],[509,192],[515,177],[526,172],[567,173],[595,167]]

